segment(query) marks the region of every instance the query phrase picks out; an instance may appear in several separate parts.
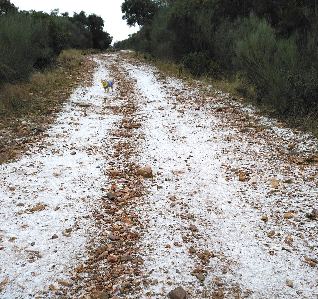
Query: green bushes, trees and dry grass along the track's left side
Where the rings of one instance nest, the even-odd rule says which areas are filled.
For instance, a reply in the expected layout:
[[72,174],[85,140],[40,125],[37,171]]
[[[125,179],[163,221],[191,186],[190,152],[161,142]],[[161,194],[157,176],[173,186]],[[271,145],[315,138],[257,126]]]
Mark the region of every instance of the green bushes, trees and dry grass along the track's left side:
[[[39,96],[66,86],[83,56],[106,50],[112,37],[100,16],[84,11],[19,11],[0,0],[0,123],[42,111]],[[72,50],[73,49],[73,50]],[[37,95],[37,96],[36,96]]]

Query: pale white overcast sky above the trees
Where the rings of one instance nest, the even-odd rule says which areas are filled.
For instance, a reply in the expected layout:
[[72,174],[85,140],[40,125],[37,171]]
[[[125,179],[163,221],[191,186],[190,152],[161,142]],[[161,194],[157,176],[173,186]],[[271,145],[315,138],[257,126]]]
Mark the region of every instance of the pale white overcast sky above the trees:
[[86,0],[86,1],[74,1],[74,0],[11,0],[15,6],[19,7],[19,10],[36,10],[45,11],[50,13],[51,10],[59,8],[60,13],[68,11],[70,16],[73,16],[73,12],[79,13],[84,10],[86,16],[95,13],[104,20],[104,31],[107,31],[110,36],[113,37],[113,42],[117,40],[123,40],[128,37],[128,34],[137,32],[139,26],[129,27],[125,20],[121,17],[121,3],[124,0]]

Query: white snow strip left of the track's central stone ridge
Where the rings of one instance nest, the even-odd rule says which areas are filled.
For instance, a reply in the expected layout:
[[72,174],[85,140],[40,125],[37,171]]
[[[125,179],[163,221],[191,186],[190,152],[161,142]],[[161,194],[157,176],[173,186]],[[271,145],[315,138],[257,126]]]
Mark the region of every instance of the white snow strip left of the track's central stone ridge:
[[[83,216],[91,214],[102,194],[101,158],[107,155],[107,130],[118,119],[102,115],[107,101],[100,78],[107,74],[95,60],[93,85],[74,91],[45,131],[49,137],[33,143],[20,160],[0,166],[0,298],[48,290],[49,283],[70,274],[85,258],[92,223]],[[92,105],[84,108],[78,102]],[[45,208],[31,211],[39,204]]]

